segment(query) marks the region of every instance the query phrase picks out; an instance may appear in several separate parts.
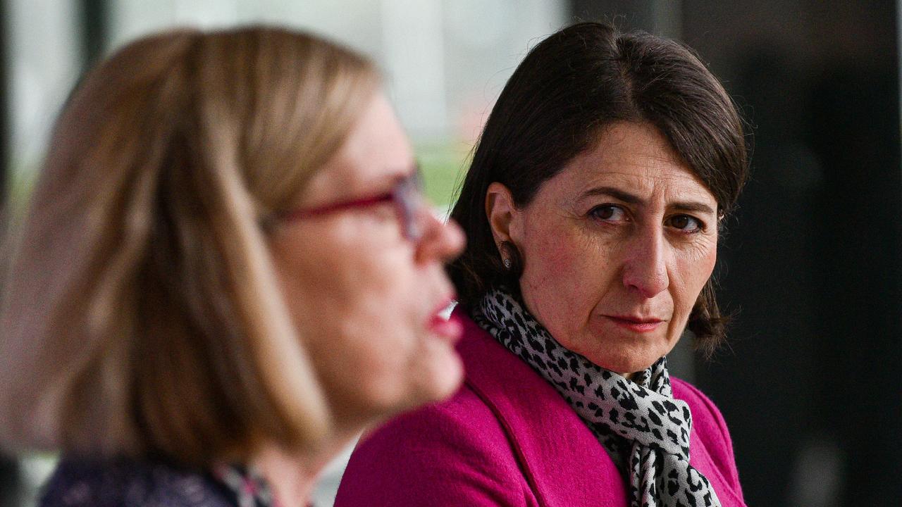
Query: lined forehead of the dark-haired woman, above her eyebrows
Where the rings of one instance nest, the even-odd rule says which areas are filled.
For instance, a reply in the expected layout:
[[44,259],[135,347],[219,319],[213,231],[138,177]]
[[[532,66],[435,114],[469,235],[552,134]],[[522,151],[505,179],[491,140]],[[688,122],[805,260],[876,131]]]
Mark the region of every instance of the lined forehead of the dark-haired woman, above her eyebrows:
[[594,146],[575,156],[548,182],[579,192],[596,186],[616,186],[643,198],[716,200],[704,182],[649,124],[608,126]]

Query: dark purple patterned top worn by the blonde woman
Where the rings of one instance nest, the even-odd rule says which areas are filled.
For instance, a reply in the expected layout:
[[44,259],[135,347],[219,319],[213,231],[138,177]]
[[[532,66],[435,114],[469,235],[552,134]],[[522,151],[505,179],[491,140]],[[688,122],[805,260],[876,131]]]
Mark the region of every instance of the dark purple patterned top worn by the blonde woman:
[[129,459],[64,458],[44,485],[41,507],[275,507],[259,475]]

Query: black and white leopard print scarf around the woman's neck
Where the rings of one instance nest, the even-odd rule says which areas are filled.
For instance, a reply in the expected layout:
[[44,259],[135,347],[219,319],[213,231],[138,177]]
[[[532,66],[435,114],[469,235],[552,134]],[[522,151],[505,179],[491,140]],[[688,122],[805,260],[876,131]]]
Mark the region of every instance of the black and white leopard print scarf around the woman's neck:
[[473,313],[584,420],[629,475],[632,507],[720,507],[711,484],[689,465],[692,414],[673,398],[664,357],[630,382],[561,346],[504,290],[490,290]]

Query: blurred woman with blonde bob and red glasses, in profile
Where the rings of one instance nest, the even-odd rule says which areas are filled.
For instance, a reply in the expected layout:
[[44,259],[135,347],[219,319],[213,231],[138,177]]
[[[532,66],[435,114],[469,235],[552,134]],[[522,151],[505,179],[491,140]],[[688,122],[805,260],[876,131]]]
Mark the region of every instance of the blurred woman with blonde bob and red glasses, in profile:
[[91,70],[11,246],[0,442],[51,505],[299,505],[360,430],[455,391],[443,263],[363,57],[166,32]]

